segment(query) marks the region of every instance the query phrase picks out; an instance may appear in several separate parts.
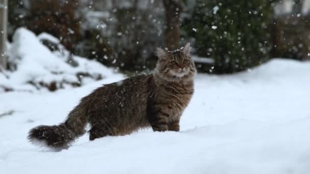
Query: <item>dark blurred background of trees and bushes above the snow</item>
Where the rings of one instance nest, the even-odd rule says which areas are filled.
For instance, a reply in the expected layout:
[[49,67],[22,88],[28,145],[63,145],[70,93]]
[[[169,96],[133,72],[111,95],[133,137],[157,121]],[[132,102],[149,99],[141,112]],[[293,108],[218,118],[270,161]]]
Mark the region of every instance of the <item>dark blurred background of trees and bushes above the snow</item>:
[[271,57],[309,60],[309,9],[309,0],[9,0],[7,33],[51,34],[125,73],[153,69],[158,46],[191,42],[199,71],[223,74]]

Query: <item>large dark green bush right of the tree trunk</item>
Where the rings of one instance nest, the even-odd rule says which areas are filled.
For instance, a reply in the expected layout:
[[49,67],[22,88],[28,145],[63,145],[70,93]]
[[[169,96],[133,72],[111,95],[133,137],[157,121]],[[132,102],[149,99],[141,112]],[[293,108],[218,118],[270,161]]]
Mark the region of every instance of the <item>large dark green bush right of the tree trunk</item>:
[[268,60],[269,0],[198,0],[183,30],[195,38],[196,54],[215,60],[215,73],[242,71]]

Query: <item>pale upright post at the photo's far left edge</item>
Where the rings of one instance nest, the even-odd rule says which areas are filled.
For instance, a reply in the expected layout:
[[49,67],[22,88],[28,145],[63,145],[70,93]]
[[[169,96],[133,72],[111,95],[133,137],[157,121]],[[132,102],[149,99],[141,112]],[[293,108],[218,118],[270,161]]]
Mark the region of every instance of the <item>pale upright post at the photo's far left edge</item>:
[[0,66],[7,69],[8,0],[0,0]]

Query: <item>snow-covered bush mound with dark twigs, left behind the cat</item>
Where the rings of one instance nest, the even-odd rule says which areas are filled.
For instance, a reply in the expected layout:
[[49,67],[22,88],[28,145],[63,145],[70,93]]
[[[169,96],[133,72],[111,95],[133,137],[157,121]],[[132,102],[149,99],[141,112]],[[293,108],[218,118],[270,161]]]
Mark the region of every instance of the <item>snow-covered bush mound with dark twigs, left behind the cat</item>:
[[8,47],[9,70],[0,72],[0,92],[55,91],[65,86],[81,86],[114,73],[95,60],[70,54],[57,38],[46,33],[36,36],[19,28]]

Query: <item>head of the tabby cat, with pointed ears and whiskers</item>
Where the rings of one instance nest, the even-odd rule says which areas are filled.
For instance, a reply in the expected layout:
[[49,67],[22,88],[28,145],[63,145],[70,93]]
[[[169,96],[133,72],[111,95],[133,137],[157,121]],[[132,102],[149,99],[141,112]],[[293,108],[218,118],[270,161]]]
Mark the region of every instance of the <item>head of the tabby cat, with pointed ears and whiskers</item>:
[[190,48],[190,43],[174,51],[157,48],[158,63],[155,69],[156,73],[169,81],[192,79],[196,74],[196,68],[190,56]]

